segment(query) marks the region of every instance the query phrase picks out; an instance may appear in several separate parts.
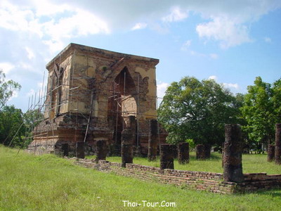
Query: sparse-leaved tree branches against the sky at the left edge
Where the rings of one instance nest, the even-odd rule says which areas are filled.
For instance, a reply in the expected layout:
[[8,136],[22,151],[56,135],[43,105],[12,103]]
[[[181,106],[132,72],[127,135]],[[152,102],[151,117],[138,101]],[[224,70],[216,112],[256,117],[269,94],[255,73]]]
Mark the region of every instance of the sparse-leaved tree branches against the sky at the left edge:
[[0,69],[0,110],[6,105],[8,100],[13,96],[13,93],[20,90],[21,86],[13,80],[5,81],[6,75]]

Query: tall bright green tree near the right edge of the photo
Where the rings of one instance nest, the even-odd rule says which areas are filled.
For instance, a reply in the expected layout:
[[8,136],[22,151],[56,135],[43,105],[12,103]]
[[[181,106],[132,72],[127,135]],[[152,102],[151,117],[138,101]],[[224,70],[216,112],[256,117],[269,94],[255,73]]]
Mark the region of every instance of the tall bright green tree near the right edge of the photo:
[[[278,82],[275,91],[271,85],[263,82],[261,77],[256,77],[253,86],[248,86],[248,93],[244,96],[244,104],[241,108],[247,125],[244,130],[248,133],[249,140],[261,148],[261,143],[270,143],[275,135],[275,122],[277,120],[274,105],[280,105],[280,94],[277,94]],[[276,92],[274,94],[274,92]],[[280,109],[280,108],[279,108]]]

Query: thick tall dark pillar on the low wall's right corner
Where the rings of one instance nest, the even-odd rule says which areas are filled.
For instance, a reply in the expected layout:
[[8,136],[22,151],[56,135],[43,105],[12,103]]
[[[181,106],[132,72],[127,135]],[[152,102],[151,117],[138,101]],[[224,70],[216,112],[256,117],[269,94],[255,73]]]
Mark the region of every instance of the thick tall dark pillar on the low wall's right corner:
[[223,154],[224,181],[242,182],[242,132],[239,124],[226,124]]

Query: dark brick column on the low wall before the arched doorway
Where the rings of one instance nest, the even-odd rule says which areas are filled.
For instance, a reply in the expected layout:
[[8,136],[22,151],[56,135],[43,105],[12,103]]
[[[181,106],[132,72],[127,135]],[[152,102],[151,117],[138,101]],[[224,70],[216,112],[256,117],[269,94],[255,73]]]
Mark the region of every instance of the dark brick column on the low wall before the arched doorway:
[[133,163],[133,130],[124,129],[122,131],[121,157],[122,167],[126,167],[126,163]]

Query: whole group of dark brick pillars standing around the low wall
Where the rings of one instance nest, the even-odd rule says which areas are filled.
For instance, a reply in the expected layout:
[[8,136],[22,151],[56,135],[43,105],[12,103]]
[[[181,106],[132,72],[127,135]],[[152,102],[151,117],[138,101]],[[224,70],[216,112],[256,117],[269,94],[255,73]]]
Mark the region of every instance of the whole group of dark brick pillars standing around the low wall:
[[[135,119],[129,117],[127,128],[122,131],[122,167],[126,163],[133,163],[133,141],[135,139]],[[156,131],[156,132],[155,132]],[[242,172],[242,132],[239,124],[226,124],[225,126],[226,141],[223,145],[223,179],[224,181],[244,181]],[[157,121],[150,121],[150,147],[148,160],[155,160],[157,156]],[[156,142],[156,144],[155,144]],[[77,158],[84,158],[84,143],[77,142]],[[174,145],[169,143],[160,144],[160,169],[174,169],[173,148]],[[205,150],[204,146],[197,146]],[[275,154],[275,162],[281,162],[281,124],[276,124],[275,150],[273,146],[269,148],[270,158]],[[106,158],[106,142],[97,141],[97,162]],[[183,164],[189,162],[189,144],[178,144],[178,162]]]

